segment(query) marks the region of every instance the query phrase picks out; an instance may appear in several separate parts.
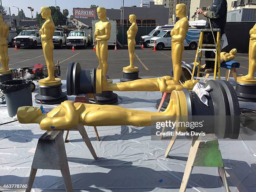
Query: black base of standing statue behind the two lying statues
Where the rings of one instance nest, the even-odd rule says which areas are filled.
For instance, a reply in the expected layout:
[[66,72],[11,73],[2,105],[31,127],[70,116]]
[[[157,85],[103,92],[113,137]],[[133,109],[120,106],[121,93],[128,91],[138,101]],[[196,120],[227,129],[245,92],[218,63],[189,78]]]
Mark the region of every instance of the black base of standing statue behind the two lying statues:
[[[95,94],[100,105],[111,105],[118,102],[118,95],[113,91],[102,91],[100,94]],[[89,99],[90,103],[95,103],[93,98]]]

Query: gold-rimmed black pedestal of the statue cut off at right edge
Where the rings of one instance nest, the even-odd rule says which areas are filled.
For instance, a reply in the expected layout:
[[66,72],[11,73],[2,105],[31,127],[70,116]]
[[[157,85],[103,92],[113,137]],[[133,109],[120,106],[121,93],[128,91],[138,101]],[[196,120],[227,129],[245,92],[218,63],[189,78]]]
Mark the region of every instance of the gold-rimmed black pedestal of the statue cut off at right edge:
[[236,95],[239,101],[256,102],[256,77],[253,80],[237,77]]

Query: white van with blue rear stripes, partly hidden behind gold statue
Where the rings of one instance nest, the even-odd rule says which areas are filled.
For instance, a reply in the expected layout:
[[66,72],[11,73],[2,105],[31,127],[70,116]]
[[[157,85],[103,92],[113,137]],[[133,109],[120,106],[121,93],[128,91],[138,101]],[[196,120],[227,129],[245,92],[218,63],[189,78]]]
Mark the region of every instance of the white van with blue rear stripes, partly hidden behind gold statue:
[[[157,36],[150,39],[149,46],[153,48],[154,45],[156,45],[157,50],[172,47],[171,31],[172,30],[161,31],[161,33],[159,33]],[[184,40],[184,47],[189,47],[189,49],[197,49],[200,32],[201,29],[189,29]]]

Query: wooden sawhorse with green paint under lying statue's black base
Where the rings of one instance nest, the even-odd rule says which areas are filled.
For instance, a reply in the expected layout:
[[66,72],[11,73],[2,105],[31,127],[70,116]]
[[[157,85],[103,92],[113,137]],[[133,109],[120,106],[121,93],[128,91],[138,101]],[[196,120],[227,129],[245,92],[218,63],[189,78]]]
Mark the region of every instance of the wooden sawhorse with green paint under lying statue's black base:
[[205,134],[205,136],[193,138],[179,192],[186,191],[189,177],[194,166],[218,168],[225,191],[230,191],[218,138],[215,134]]

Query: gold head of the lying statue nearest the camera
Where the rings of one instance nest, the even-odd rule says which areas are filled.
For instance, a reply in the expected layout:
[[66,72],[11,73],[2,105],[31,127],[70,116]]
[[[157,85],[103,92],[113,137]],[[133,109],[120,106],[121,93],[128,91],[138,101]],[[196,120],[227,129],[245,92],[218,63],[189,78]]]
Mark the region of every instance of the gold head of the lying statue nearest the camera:
[[33,123],[36,118],[42,115],[40,108],[31,106],[19,107],[17,111],[18,121],[20,123]]

